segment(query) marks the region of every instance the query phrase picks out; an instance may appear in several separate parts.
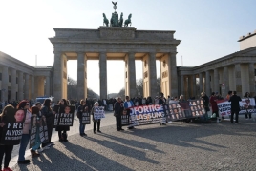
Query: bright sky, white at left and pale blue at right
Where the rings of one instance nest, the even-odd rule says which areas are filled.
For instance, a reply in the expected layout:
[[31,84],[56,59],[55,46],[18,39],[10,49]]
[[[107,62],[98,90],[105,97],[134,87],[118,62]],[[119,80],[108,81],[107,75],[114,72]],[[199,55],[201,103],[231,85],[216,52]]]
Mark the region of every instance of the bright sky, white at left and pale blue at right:
[[[198,66],[239,51],[239,37],[256,29],[256,0],[119,0],[117,13],[133,14],[132,26],[147,30],[175,30],[177,65]],[[0,51],[30,65],[53,65],[53,28],[98,28],[102,13],[114,11],[108,0],[0,0]],[[97,62],[89,62],[88,85],[98,89]],[[112,66],[115,65],[115,70]],[[137,79],[142,76],[137,63]],[[68,67],[76,70],[74,63]],[[118,66],[119,68],[117,68]],[[123,62],[108,63],[108,91],[124,87]],[[76,79],[76,72],[68,75]],[[159,72],[159,71],[158,71]],[[113,84],[119,78],[119,84]]]

